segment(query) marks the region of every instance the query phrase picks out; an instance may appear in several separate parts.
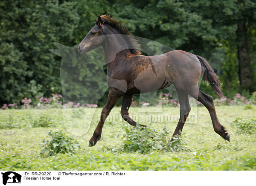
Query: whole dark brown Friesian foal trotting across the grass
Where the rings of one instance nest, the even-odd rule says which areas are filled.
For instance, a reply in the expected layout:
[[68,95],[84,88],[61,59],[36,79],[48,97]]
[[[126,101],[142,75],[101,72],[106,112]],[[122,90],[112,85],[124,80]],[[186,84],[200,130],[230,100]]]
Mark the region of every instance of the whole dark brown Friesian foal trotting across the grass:
[[171,84],[175,85],[180,102],[180,119],[173,136],[179,136],[183,129],[190,112],[188,95],[191,95],[208,109],[214,131],[230,140],[230,134],[218,120],[212,96],[198,88],[198,81],[203,75],[213,91],[222,96],[218,76],[204,58],[181,50],[161,55],[141,55],[137,40],[130,35],[128,29],[106,15],[97,16],[96,25],[81,41],[78,51],[85,54],[99,46],[104,49],[110,91],[100,121],[90,139],[90,146],[100,139],[104,121],[121,96],[122,118],[136,126],[128,112],[134,95],[163,89]]

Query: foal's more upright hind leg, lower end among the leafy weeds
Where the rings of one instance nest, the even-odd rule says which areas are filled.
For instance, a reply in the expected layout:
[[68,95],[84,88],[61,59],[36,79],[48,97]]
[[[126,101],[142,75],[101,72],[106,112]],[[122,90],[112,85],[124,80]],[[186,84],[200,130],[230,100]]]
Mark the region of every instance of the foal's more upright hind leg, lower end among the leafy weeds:
[[180,119],[172,136],[180,136],[183,126],[191,110],[188,94],[183,90],[176,89],[180,103]]

